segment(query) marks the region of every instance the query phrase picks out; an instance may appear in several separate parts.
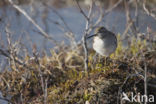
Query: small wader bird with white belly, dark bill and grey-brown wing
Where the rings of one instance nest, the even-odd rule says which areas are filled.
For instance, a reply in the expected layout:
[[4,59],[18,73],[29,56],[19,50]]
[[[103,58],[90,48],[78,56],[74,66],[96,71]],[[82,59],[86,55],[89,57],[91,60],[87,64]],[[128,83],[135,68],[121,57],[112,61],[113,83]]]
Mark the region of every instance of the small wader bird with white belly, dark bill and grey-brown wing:
[[95,29],[94,34],[87,37],[87,39],[92,37],[92,47],[96,53],[107,58],[115,52],[117,48],[117,38],[113,32],[107,30],[103,26],[99,26]]

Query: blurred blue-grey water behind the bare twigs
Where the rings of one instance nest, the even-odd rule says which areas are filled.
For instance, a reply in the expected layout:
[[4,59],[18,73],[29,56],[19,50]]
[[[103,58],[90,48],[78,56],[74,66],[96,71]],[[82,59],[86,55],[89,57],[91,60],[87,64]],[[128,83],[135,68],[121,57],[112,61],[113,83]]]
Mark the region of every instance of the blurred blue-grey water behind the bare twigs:
[[[21,6],[49,35],[52,35],[55,40],[61,42],[65,41],[68,43],[69,40],[65,37],[64,32],[61,31],[59,26],[53,24],[51,21],[57,21],[64,26],[61,19],[52,11],[52,7],[48,8],[47,18],[43,19],[45,13],[45,7],[42,4],[35,5],[35,11],[30,5]],[[76,40],[80,40],[85,29],[85,19],[80,14],[79,10],[75,7],[65,7],[57,9],[57,12],[63,17],[64,21],[68,24],[70,29],[74,32]],[[132,10],[132,17],[134,17],[134,11]],[[9,29],[12,32],[13,41],[17,41],[21,38],[22,42],[28,49],[31,50],[30,40],[33,44],[36,44],[38,49],[42,49],[46,46],[48,49],[53,47],[51,42],[45,42],[43,36],[39,33],[37,28],[30,23],[27,18],[17,12],[11,6],[0,9],[0,32],[2,39],[6,44],[5,27],[9,25]],[[126,17],[123,10],[114,10],[110,14],[104,17],[100,25],[106,26],[109,30],[114,33],[123,33],[126,26]],[[145,15],[143,12],[139,12],[139,28],[141,32],[146,31],[146,27],[150,26],[153,30],[156,30],[156,21],[151,17]],[[65,27],[65,26],[64,26]]]

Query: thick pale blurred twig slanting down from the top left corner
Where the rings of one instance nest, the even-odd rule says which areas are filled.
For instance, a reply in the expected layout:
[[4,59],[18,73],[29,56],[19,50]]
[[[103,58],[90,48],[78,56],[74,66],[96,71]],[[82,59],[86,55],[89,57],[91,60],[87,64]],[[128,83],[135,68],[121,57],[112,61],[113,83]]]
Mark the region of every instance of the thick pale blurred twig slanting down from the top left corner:
[[8,1],[15,9],[17,9],[20,13],[22,13],[42,33],[42,36],[51,40],[55,45],[58,45],[57,41],[54,40],[52,36],[49,36],[23,9],[21,9],[18,5],[14,4],[12,0]]

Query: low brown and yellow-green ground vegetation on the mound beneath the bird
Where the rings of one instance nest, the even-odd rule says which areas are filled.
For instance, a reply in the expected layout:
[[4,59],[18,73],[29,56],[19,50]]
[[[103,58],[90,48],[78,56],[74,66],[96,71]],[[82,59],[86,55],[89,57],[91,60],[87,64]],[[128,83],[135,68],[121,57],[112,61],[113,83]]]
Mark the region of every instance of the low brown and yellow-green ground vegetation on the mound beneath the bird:
[[[126,93],[144,93],[144,80],[140,76],[144,75],[144,63],[147,64],[148,82],[156,83],[153,81],[156,78],[156,44],[149,48],[145,40],[133,38],[125,48],[118,37],[118,48],[107,65],[101,56],[94,63],[95,52],[89,49],[88,76],[84,74],[82,47],[79,51],[67,47],[62,46],[57,51],[51,49],[51,56],[44,55],[38,58],[38,62],[29,55],[25,56],[31,69],[16,64],[16,67],[11,67],[12,71],[1,72],[0,90],[3,95],[10,95],[12,103],[42,104],[45,101],[42,76],[44,85],[47,84],[47,89],[44,89],[48,104],[84,104],[86,101],[90,104],[116,104],[121,88]],[[128,76],[137,72],[140,75],[130,77],[124,83]],[[147,91],[154,94],[156,88],[148,86]]]

